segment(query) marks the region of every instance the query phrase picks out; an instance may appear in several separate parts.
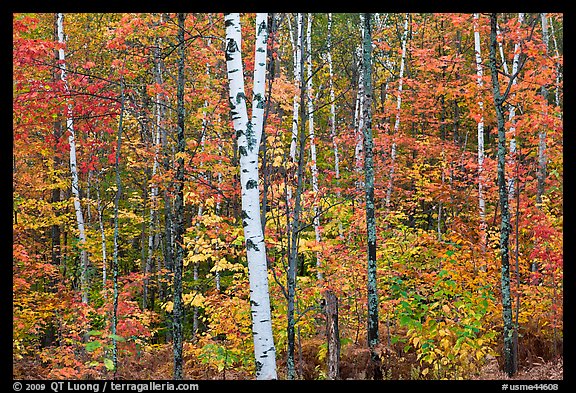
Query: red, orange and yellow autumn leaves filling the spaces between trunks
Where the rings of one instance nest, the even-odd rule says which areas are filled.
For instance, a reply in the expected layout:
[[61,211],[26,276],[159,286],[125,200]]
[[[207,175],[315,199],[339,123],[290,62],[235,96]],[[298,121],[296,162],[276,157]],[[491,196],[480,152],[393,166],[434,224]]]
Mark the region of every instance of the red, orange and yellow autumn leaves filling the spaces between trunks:
[[[515,42],[526,63],[511,86],[505,105],[515,117],[505,124],[518,150],[506,171],[520,192],[518,207],[510,200],[512,298],[520,297],[520,332],[541,334],[560,342],[563,315],[563,124],[562,15],[550,14],[558,37],[558,53],[546,51],[535,14],[520,24],[516,15],[500,20],[504,59],[508,66]],[[496,188],[496,116],[490,102],[488,72],[478,87],[473,51],[472,15],[411,15],[411,39],[403,79],[402,122],[396,119],[402,20],[384,15],[374,30],[375,205],[378,225],[378,276],[381,323],[391,345],[413,355],[422,378],[469,375],[493,354],[499,329],[497,253],[500,214]],[[118,81],[124,78],[125,134],[120,171],[120,301],[118,331],[121,359],[155,353],[153,342],[166,340],[164,325],[171,313],[170,227],[173,217],[175,162],[185,165],[183,221],[185,307],[197,310],[199,330],[185,352],[214,375],[230,368],[253,372],[250,347],[248,276],[243,256],[238,152],[230,126],[226,97],[222,26],[214,15],[186,19],[186,150],[174,153],[176,39],[174,14],[67,15],[67,73],[70,94],[60,80],[54,51],[53,15],[13,16],[13,348],[15,360],[38,353],[48,377],[101,377],[109,367],[108,315],[110,282],[102,283],[102,241],[112,242],[111,201],[116,191],[112,165],[120,111]],[[252,19],[253,15],[243,18]],[[219,19],[222,19],[221,17]],[[303,229],[297,267],[297,323],[302,341],[323,334],[317,308],[322,291],[339,298],[342,340],[362,342],[366,324],[363,244],[365,218],[354,172],[354,100],[357,26],[349,15],[337,15],[333,29],[336,134],[330,135],[326,86],[330,77],[323,45],[326,18],[314,18],[313,75],[318,192],[305,168]],[[250,26],[252,23],[244,23]],[[480,16],[483,53],[488,24]],[[286,195],[292,187],[289,146],[293,97],[292,52],[284,22],[275,33],[273,83],[267,97],[266,149],[261,148],[259,181],[266,190],[265,236],[275,340],[279,353],[286,337],[286,302],[278,284],[286,268]],[[533,27],[533,28],[532,28]],[[250,47],[251,34],[246,34]],[[553,48],[552,38],[550,48]],[[485,51],[485,52],[484,52]],[[246,53],[246,74],[254,67]],[[499,57],[499,62],[501,58]],[[158,78],[158,73],[163,78]],[[270,75],[269,75],[270,76]],[[250,91],[250,77],[247,78]],[[500,75],[506,82],[507,77]],[[550,92],[544,99],[542,87]],[[558,104],[556,101],[558,91]],[[268,94],[268,87],[266,94]],[[484,105],[486,158],[483,189],[489,247],[482,253],[478,234],[477,101]],[[79,244],[74,226],[67,163],[66,105],[74,114],[78,171],[87,217],[88,241]],[[511,130],[511,127],[514,130]],[[189,132],[188,132],[189,130]],[[547,178],[542,204],[535,206],[538,131],[546,130]],[[334,138],[334,139],[333,139]],[[332,142],[340,153],[341,175],[335,177]],[[391,165],[390,146],[397,143],[394,188],[385,206]],[[307,142],[308,143],[308,142]],[[157,162],[156,172],[152,171]],[[152,196],[152,190],[157,187]],[[52,195],[58,195],[58,198]],[[98,196],[97,196],[98,194]],[[314,205],[322,212],[322,241],[312,223]],[[100,207],[98,207],[100,206]],[[154,214],[150,214],[151,210]],[[201,210],[202,214],[198,214]],[[515,215],[518,214],[518,235]],[[56,235],[56,228],[58,234]],[[518,239],[516,239],[518,238]],[[58,241],[56,241],[58,239]],[[151,239],[151,243],[149,243]],[[149,244],[152,246],[149,248]],[[91,254],[90,304],[78,297],[78,255]],[[110,251],[110,249],[108,249]],[[53,257],[54,255],[54,257]],[[59,258],[55,256],[58,255]],[[316,258],[323,280],[318,281]],[[144,274],[144,265],[150,261]],[[531,265],[537,268],[532,271]],[[197,277],[193,271],[197,269]],[[219,280],[219,290],[216,281]],[[146,284],[145,284],[146,283]],[[143,287],[148,285],[142,309]],[[513,304],[516,307],[515,303]],[[79,310],[76,312],[75,310]],[[191,331],[190,326],[185,331]],[[88,339],[85,341],[87,333]],[[100,332],[101,334],[97,334]],[[186,333],[186,340],[192,340]],[[124,340],[124,341],[122,341]],[[163,344],[162,344],[163,345]],[[555,344],[550,344],[555,345]],[[148,352],[147,352],[148,351]],[[108,361],[106,360],[108,359]],[[122,360],[120,361],[120,364]],[[122,366],[120,366],[122,367]],[[194,368],[192,361],[187,367]],[[416,370],[416,368],[414,368]],[[127,370],[116,370],[126,372]],[[415,371],[416,372],[416,371]],[[407,376],[409,377],[409,376]]]

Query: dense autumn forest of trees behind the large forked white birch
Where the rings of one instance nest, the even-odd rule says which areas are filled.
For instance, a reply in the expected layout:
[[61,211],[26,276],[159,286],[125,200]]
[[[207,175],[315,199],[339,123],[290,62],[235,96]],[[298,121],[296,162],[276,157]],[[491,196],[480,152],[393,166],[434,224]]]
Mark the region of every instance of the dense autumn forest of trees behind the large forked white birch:
[[13,377],[259,377],[246,188],[278,378],[561,359],[563,15],[231,18],[13,15]]

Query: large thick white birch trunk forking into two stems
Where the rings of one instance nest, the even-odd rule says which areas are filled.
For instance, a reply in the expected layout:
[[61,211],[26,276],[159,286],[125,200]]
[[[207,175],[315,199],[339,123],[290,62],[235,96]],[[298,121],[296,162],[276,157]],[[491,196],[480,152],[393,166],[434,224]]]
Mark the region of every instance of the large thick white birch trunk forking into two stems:
[[230,108],[237,135],[242,187],[242,221],[248,276],[252,334],[257,379],[276,379],[276,349],[272,335],[270,295],[266,246],[260,220],[260,192],[258,188],[258,151],[264,118],[264,89],[266,78],[267,14],[256,15],[256,45],[254,61],[254,89],[252,118],[249,120],[244,94],[241,52],[240,14],[225,14],[226,67],[230,86]]

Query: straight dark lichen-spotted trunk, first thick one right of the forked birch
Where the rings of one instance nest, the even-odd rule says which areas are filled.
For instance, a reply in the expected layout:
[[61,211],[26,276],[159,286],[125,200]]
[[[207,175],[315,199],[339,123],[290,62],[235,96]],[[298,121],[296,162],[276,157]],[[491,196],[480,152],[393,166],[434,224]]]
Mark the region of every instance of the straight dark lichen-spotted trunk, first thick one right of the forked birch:
[[366,190],[366,229],[368,233],[368,347],[374,379],[381,379],[380,358],[376,353],[378,335],[378,283],[376,277],[376,215],[374,206],[374,142],[372,139],[372,14],[364,15],[364,173]]

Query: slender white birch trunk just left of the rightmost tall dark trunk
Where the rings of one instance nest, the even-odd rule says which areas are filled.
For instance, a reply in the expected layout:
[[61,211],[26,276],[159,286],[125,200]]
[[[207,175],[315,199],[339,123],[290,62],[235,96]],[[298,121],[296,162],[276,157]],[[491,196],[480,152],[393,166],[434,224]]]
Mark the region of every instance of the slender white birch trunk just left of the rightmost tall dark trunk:
[[[474,52],[476,55],[476,81],[478,91],[482,91],[482,53],[480,48],[480,31],[478,28],[479,14],[474,14]],[[478,121],[478,206],[480,210],[480,246],[482,252],[486,251],[486,204],[484,202],[483,192],[483,165],[484,165],[484,102],[478,100],[478,109],[480,120]]]

